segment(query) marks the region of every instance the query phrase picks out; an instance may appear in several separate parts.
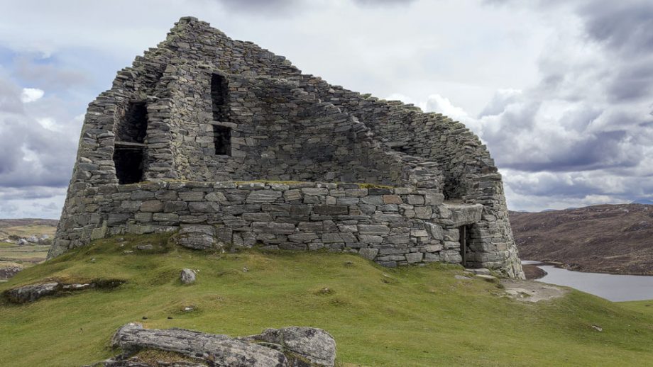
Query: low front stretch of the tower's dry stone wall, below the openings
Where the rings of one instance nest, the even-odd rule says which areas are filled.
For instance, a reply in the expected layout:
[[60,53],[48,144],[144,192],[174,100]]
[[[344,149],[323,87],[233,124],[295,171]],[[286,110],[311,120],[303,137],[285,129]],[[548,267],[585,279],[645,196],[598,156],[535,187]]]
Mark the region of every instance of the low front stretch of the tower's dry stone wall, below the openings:
[[[79,199],[86,202],[79,213],[62,223],[72,231],[73,247],[109,235],[181,228],[180,236],[195,236],[190,247],[329,249],[385,266],[459,263],[456,227],[479,220],[482,210],[444,205],[444,196],[429,189],[313,182],[106,185],[80,192]],[[207,235],[204,241],[197,241],[198,233]]]

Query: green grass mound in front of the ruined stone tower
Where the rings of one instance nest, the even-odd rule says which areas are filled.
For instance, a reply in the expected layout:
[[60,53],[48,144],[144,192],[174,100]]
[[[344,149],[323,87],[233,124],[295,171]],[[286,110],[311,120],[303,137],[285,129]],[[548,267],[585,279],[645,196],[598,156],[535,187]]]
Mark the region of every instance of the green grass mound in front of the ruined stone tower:
[[[147,243],[155,245],[148,254],[133,249]],[[653,363],[651,312],[576,290],[520,303],[494,283],[455,279],[459,266],[384,269],[349,254],[207,254],[167,243],[166,235],[103,239],[0,284],[5,290],[46,278],[127,281],[28,305],[2,301],[0,366],[99,361],[116,354],[109,349],[115,330],[134,321],[233,336],[321,327],[335,337],[344,366]],[[199,270],[194,285],[178,280],[186,267]],[[188,305],[197,310],[183,312]]]

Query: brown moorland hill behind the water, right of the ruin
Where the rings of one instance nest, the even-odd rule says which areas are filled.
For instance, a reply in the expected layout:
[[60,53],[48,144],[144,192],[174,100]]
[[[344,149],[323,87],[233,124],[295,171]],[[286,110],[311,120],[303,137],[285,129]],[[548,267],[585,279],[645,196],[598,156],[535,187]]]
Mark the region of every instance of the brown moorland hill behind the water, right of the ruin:
[[653,205],[593,205],[540,213],[510,212],[523,260],[568,269],[653,275]]

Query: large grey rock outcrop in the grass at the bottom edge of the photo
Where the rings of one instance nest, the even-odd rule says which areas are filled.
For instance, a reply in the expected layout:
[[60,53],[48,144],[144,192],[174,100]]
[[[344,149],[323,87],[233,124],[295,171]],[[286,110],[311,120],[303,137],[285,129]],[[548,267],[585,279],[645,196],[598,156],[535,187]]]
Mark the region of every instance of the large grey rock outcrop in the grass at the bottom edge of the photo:
[[105,367],[163,366],[134,356],[142,349],[179,354],[165,366],[309,367],[334,366],[336,342],[329,333],[312,327],[266,329],[249,337],[231,338],[186,329],[144,329],[130,323],[111,339],[125,354],[96,363]]

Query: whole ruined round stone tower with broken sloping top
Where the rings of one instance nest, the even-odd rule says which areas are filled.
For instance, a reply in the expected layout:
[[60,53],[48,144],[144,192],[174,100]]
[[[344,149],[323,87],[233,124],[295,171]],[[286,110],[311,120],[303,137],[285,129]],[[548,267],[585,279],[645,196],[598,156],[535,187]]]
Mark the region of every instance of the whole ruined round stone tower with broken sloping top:
[[49,257],[175,230],[194,248],[523,277],[501,176],[463,124],[302,74],[192,17],[90,103]]

